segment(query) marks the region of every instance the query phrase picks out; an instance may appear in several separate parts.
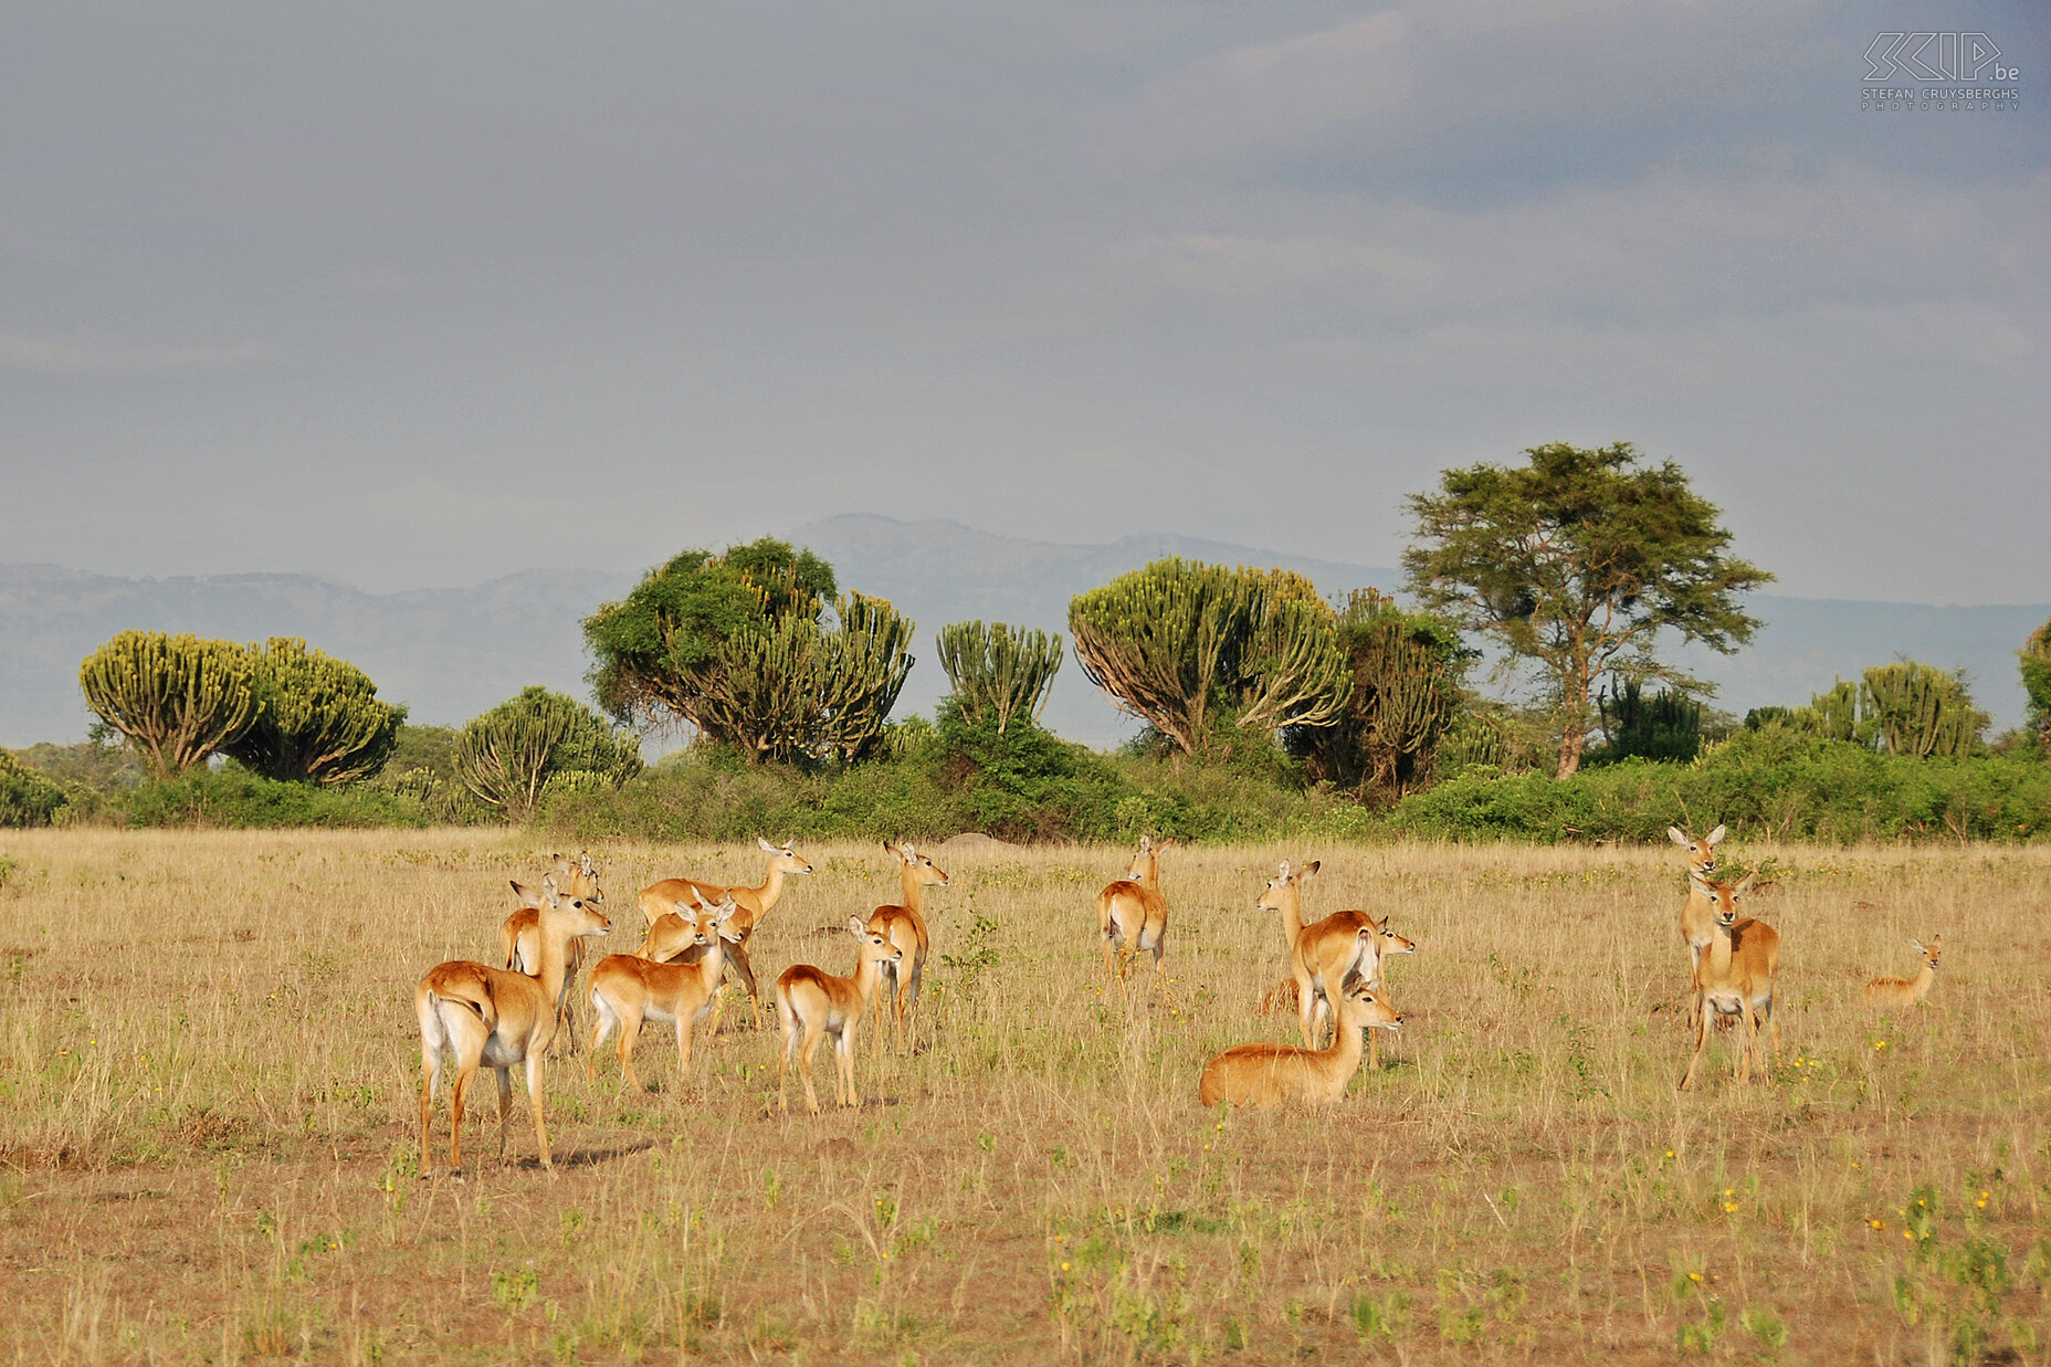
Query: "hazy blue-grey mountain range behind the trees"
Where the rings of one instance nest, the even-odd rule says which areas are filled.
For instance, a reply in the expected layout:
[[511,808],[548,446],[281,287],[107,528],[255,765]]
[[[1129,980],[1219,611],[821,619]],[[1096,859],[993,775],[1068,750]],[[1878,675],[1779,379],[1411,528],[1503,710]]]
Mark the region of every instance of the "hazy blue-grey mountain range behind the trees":
[[[1067,634],[1069,599],[1169,554],[1226,564],[1274,564],[1309,575],[1323,593],[1395,587],[1393,569],[1339,564],[1188,536],[1126,536],[1097,546],[1030,542],[958,521],[827,517],[790,540],[833,562],[841,587],[888,597],[919,622],[919,657],[898,712],[931,712],[948,688],[933,632],[968,618]],[[406,702],[418,722],[461,722],[527,684],[585,696],[589,665],[578,628],[636,575],[523,571],[470,589],[363,593],[308,575],[117,579],[51,564],[0,564],[0,745],[74,741],[90,714],[78,661],[127,628],[258,640],[304,636],[361,665],[384,698]],[[1834,679],[1897,655],[1965,667],[1996,727],[2022,720],[2016,649],[2051,616],[2051,603],[1930,608],[1754,595],[1766,624],[1733,657],[1686,651],[1696,673],[1721,686],[1717,706],[1743,712],[1766,702],[1807,702]],[[1089,745],[1132,733],[1071,657],[1048,702],[1048,727]]]

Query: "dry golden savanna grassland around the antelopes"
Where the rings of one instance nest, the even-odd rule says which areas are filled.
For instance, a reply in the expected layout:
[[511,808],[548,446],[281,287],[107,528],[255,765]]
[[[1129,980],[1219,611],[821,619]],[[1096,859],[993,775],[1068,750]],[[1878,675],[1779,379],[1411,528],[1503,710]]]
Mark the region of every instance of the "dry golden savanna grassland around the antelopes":
[[[896,901],[882,850],[800,850],[765,981],[849,971],[835,928]],[[1690,1096],[1665,846],[1175,848],[1171,981],[1130,1006],[1093,913],[1128,852],[943,856],[919,1051],[866,1030],[859,1110],[810,1117],[794,1080],[779,1115],[773,1030],[679,1080],[650,1026],[648,1092],[550,1067],[560,1180],[519,1096],[492,1162],[476,1088],[461,1184],[416,1180],[412,985],[494,959],[544,846],[0,854],[6,1361],[2051,1361],[2051,850],[1727,846],[1776,885],[1747,907],[1784,940],[1782,1057],[1739,1088],[1715,1039]],[[640,885],[761,868],[595,854],[605,950],[638,942]],[[1309,915],[1419,942],[1389,971],[1407,1028],[1333,1110],[1208,1112],[1206,1057],[1296,1030],[1259,1012],[1284,856],[1325,862]],[[1938,932],[1930,1000],[1864,1010]]]

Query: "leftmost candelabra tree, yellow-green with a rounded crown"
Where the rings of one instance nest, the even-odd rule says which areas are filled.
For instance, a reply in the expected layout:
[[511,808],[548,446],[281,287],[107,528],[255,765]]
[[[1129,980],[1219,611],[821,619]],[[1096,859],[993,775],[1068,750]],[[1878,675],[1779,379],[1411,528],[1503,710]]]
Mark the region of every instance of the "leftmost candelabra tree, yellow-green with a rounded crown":
[[78,665],[78,686],[158,778],[203,764],[256,716],[254,671],[234,640],[121,632]]

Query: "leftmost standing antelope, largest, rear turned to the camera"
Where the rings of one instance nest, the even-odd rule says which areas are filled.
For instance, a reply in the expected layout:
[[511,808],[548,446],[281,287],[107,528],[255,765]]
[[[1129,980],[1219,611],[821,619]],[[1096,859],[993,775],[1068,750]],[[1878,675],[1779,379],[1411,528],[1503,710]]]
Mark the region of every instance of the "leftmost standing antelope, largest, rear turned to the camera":
[[412,993],[420,1018],[420,1176],[435,1174],[429,1156],[429,1123],[435,1088],[441,1084],[441,1055],[455,1055],[455,1088],[449,1096],[449,1172],[464,1174],[464,1098],[478,1067],[498,1073],[498,1158],[507,1154],[507,1110],[513,1102],[511,1067],[527,1065],[527,1104],[533,1108],[533,1139],[541,1168],[556,1176],[541,1123],[541,1055],[556,1039],[556,1004],[562,1000],[566,946],[574,938],[611,932],[605,913],[580,897],[562,897],[556,878],[541,878],[539,977],[490,969],[482,963],[451,961],[429,969]]

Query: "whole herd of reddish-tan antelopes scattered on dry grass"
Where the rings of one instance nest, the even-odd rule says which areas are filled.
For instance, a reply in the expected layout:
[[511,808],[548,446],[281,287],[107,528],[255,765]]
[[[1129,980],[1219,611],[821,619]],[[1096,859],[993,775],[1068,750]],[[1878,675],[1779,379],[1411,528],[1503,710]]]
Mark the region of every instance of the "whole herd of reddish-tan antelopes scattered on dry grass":
[[[1694,1055],[1688,1059],[1680,1090],[1694,1088],[1711,1028],[1725,1022],[1739,1030],[1733,1080],[1750,1082],[1754,1069],[1770,1078],[1772,1071],[1760,1061],[1758,1049],[1764,1030],[1778,1065],[1780,1026],[1774,1004],[1780,934],[1766,922],[1737,913],[1741,899],[1770,885],[1756,883],[1756,874],[1735,883],[1717,881],[1717,846],[1725,837],[1721,825],[1702,837],[1692,837],[1680,827],[1670,827],[1667,835],[1682,848],[1688,874],[1680,934],[1688,948],[1688,1020],[1694,1028]],[[617,1034],[624,1084],[638,1088],[634,1045],[646,1022],[675,1026],[677,1071],[679,1078],[687,1076],[697,1024],[710,1016],[710,1034],[720,1030],[720,987],[728,969],[747,991],[751,1024],[761,1022],[761,993],[747,944],[783,895],[783,881],[792,874],[810,874],[812,866],[788,842],[757,844],[769,856],[759,885],[662,878],[640,891],[636,901],[646,920],[640,948],[634,954],[601,959],[589,975],[587,995],[599,1028],[587,1045],[587,1080],[597,1076],[599,1049]],[[1153,977],[1163,991],[1171,981],[1163,963],[1169,907],[1161,891],[1161,852],[1169,846],[1171,839],[1142,837],[1126,874],[1097,893],[1103,969],[1120,993],[1128,989],[1132,965],[1140,954],[1153,956]],[[923,895],[925,889],[948,887],[948,874],[911,844],[886,842],[884,854],[894,862],[902,891],[896,903],[880,905],[868,917],[847,917],[845,930],[855,942],[855,971],[841,977],[816,965],[794,963],[775,979],[775,1020],[783,1034],[777,1067],[781,1108],[788,1108],[786,1084],[796,1057],[804,1098],[812,1112],[818,1112],[812,1057],[820,1041],[833,1043],[835,1100],[841,1106],[861,1104],[855,1090],[855,1032],[863,1018],[878,1010],[880,991],[888,995],[878,1028],[888,1024],[900,1051],[909,1047],[911,1037],[917,1037],[919,987],[931,946]],[[1276,913],[1282,922],[1290,971],[1282,995],[1294,993],[1302,1045],[1257,1041],[1216,1055],[1198,1078],[1198,1100],[1204,1106],[1333,1104],[1345,1096],[1362,1057],[1370,1069],[1380,1065],[1374,1032],[1403,1028],[1403,1012],[1389,1002],[1382,969],[1389,956],[1415,952],[1415,940],[1391,930],[1386,915],[1374,917],[1356,909],[1333,911],[1304,924],[1304,883],[1315,878],[1319,866],[1319,860],[1302,866],[1282,860],[1280,872],[1268,878],[1255,901],[1259,911]],[[605,893],[589,854],[576,862],[556,858],[554,872],[541,878],[539,889],[513,883],[513,891],[519,909],[500,926],[505,967],[443,963],[431,969],[414,991],[423,1067],[423,1178],[433,1176],[429,1131],[445,1055],[455,1059],[449,1170],[457,1176],[464,1170],[464,1104],[480,1067],[496,1073],[498,1156],[505,1158],[511,1069],[519,1065],[527,1073],[527,1104],[533,1112],[541,1168],[554,1176],[541,1119],[541,1061],[558,1039],[566,1039],[570,1053],[576,1053],[572,991],[582,963],[582,942],[607,936],[611,922],[603,911]],[[1875,977],[1864,987],[1868,1006],[1912,1008],[1930,993],[1942,936],[1932,936],[1928,944],[1922,940],[1912,944],[1924,956],[1920,973],[1914,979]],[[1370,1043],[1364,1045],[1362,1037]]]

